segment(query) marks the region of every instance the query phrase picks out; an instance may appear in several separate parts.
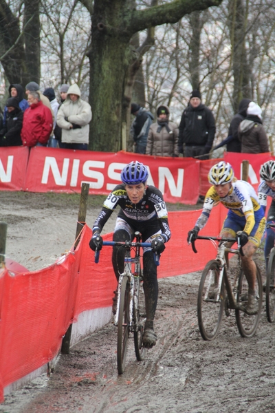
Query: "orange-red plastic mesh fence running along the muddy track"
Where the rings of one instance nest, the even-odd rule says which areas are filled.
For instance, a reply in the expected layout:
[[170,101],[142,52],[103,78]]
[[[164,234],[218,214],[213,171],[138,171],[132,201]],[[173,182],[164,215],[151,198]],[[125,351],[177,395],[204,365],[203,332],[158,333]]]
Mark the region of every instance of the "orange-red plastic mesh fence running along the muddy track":
[[[187,232],[199,211],[169,213],[172,238],[162,254],[159,277],[197,271],[214,257],[214,247],[198,241],[192,252]],[[226,210],[215,207],[203,233],[217,235]],[[0,401],[3,388],[53,359],[69,324],[84,310],[111,306],[116,282],[111,248],[103,248],[100,263],[89,249],[91,229],[85,226],[76,251],[41,271],[15,276],[0,273]],[[110,240],[111,234],[105,235]]]

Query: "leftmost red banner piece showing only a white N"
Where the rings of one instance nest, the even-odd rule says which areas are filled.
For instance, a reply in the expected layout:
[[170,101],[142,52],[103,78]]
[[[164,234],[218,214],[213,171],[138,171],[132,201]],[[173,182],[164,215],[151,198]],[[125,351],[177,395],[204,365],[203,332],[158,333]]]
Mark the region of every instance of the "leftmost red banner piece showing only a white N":
[[22,191],[28,157],[27,147],[1,147],[0,191]]

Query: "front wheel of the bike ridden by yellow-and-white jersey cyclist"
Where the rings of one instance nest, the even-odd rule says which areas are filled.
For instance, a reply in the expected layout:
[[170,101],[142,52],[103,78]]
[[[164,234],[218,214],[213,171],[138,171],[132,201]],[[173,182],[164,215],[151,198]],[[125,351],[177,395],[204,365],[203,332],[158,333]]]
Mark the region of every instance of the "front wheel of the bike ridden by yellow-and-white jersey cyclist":
[[217,288],[219,264],[212,260],[206,264],[201,275],[197,299],[199,331],[203,340],[214,339],[221,326],[224,308],[224,284]]

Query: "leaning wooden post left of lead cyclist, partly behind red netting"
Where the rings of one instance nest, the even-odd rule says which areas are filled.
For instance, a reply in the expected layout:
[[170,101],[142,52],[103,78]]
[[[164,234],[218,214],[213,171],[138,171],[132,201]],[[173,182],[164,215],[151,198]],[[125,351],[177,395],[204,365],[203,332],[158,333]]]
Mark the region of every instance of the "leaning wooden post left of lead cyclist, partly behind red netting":
[[[74,249],[78,246],[78,242],[80,238],[78,235],[80,231],[83,229],[83,225],[86,222],[86,215],[87,215],[87,202],[88,202],[88,195],[89,195],[89,184],[82,184],[81,186],[81,195],[80,195],[80,204],[78,209],[78,223],[76,225],[76,243],[74,244]],[[69,354],[69,346],[71,343],[71,335],[72,335],[72,324],[70,324],[69,328],[67,329],[65,336],[62,340],[61,346],[61,354]]]

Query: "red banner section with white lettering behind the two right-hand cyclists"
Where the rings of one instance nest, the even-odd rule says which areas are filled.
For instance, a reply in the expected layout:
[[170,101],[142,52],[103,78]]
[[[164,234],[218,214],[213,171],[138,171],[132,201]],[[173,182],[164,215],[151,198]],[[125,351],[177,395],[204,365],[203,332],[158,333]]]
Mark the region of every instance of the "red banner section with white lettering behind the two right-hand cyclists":
[[225,162],[229,162],[234,169],[234,176],[236,178],[242,178],[242,162],[243,160],[248,160],[249,171],[248,171],[248,182],[252,184],[254,189],[257,191],[259,184],[261,182],[260,178],[260,168],[263,163],[267,160],[274,160],[274,156],[271,153],[234,153],[227,152],[224,154]]

